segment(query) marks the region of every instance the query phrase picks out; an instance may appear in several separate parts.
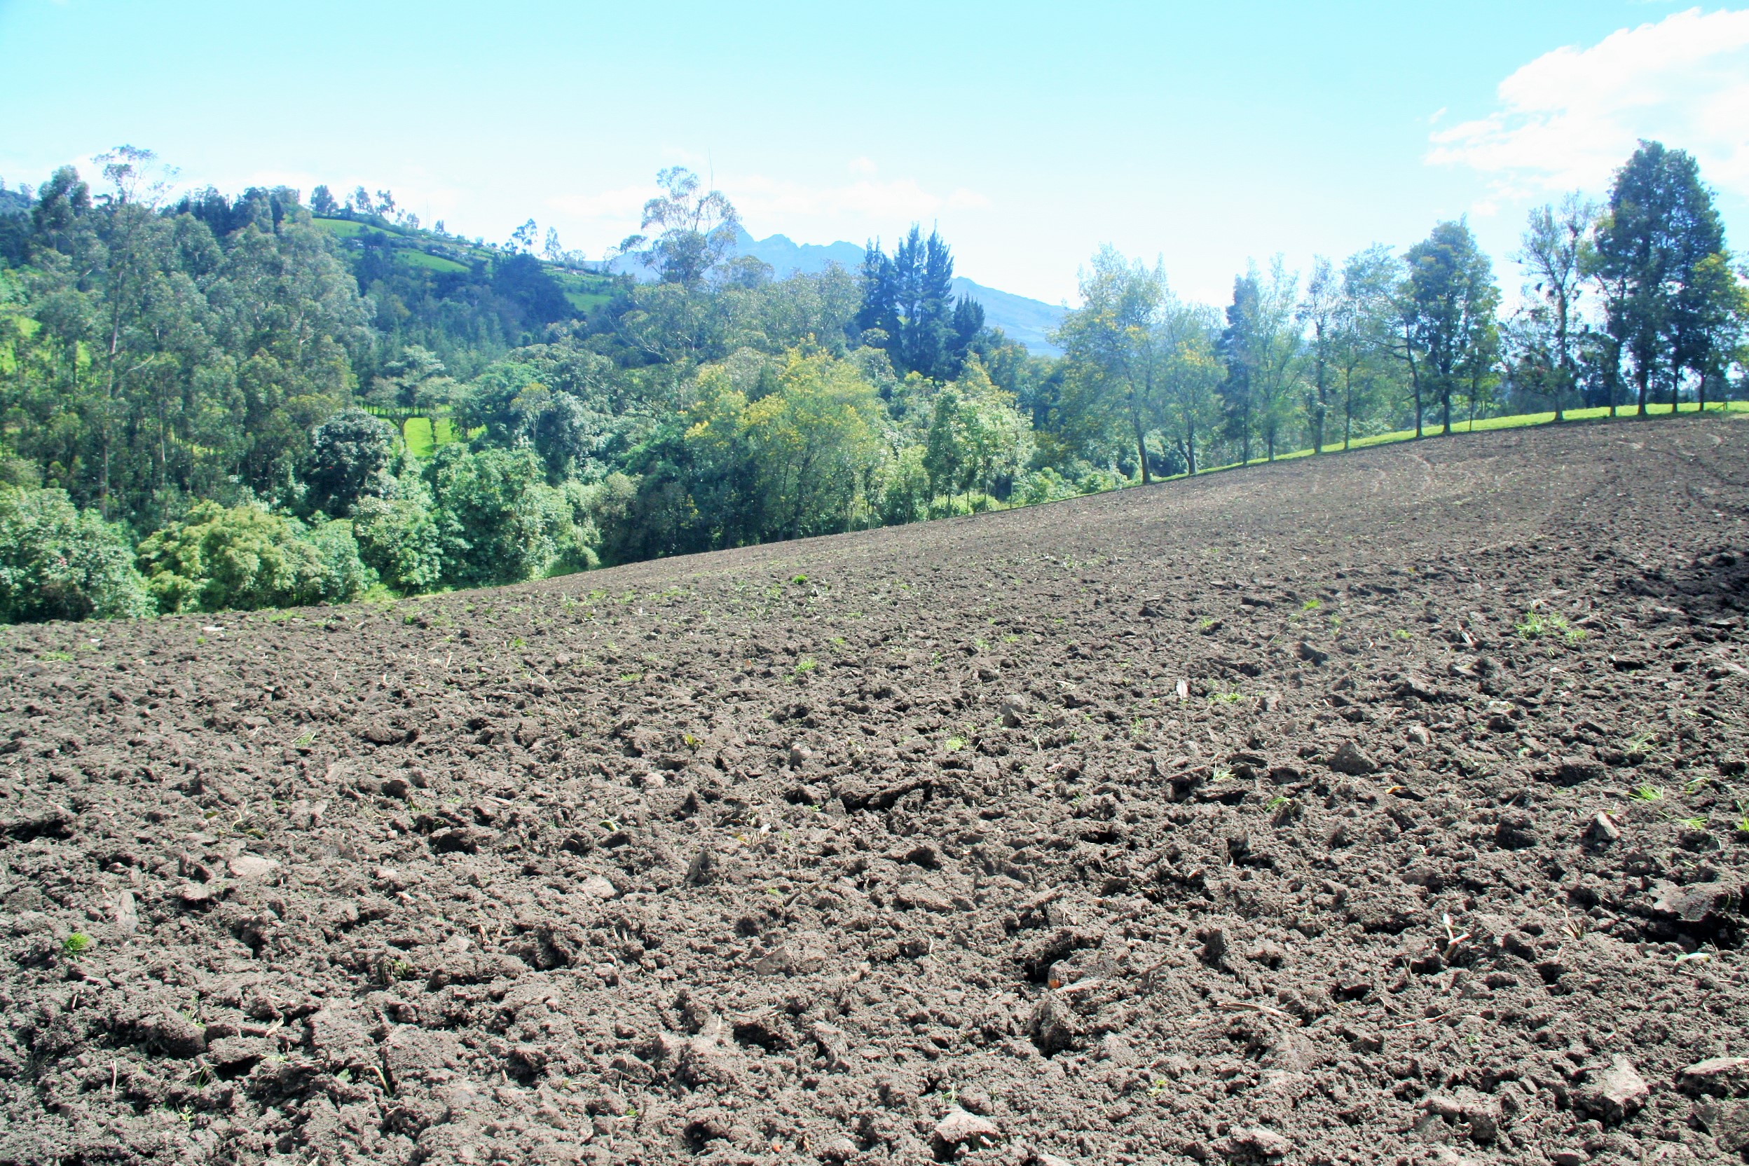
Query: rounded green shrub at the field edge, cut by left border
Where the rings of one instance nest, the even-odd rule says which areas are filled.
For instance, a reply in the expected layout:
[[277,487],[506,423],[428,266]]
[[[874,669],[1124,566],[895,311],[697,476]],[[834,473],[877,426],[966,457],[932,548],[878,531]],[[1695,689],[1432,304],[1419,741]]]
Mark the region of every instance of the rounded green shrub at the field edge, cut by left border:
[[65,489],[0,486],[0,622],[150,615],[119,526]]

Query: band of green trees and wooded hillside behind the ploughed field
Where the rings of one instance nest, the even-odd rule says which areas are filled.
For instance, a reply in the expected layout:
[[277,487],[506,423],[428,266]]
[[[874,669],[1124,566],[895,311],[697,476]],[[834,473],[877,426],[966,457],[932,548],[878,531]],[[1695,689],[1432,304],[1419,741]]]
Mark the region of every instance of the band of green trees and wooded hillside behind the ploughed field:
[[[0,184],[0,619],[514,582],[1046,502],[1502,413],[1744,395],[1746,295],[1693,159],[1527,226],[1279,260],[1223,308],[1105,250],[1030,355],[911,229],[773,278],[659,175],[610,274],[390,192],[173,192],[150,152]],[[964,287],[964,285],[962,285]]]

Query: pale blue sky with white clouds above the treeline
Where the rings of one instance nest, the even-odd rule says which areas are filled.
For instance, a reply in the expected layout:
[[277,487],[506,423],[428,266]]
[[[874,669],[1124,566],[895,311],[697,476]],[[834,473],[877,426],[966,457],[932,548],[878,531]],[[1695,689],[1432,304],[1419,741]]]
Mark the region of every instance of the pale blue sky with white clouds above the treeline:
[[939,224],[960,274],[1074,302],[1102,245],[1224,299],[1249,259],[1525,210],[1637,136],[1693,150],[1749,246],[1749,10],[1469,3],[0,0],[0,178],[131,143],[184,184],[392,189],[600,253],[661,166],[756,236]]

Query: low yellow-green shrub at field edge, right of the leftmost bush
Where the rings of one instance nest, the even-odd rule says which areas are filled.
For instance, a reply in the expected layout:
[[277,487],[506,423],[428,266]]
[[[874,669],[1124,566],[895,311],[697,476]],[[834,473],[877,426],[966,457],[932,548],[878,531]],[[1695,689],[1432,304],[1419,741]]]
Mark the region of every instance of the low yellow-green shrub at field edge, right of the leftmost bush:
[[140,570],[164,612],[345,603],[374,579],[352,524],[306,531],[259,507],[199,502],[140,544]]

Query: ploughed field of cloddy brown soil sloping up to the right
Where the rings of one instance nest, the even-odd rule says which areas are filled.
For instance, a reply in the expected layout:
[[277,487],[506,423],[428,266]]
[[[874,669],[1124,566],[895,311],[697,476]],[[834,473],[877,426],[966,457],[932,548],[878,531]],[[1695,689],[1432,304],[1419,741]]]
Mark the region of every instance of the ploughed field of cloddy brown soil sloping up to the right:
[[0,1161],[1735,1161],[1746,516],[1588,425],[9,629]]

